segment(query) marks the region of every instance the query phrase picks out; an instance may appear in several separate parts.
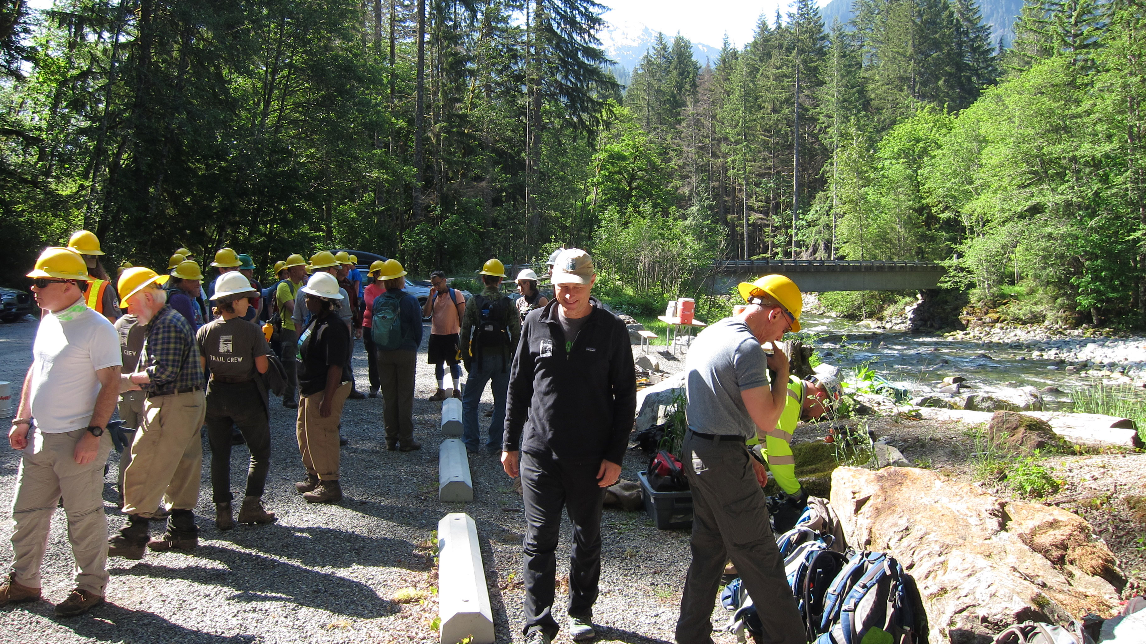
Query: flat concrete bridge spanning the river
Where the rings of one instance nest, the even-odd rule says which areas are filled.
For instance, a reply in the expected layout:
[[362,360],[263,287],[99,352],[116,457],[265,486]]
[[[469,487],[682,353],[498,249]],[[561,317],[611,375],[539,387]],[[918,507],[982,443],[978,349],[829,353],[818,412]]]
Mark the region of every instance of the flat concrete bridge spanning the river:
[[733,259],[713,262],[714,292],[761,275],[787,275],[804,292],[937,289],[947,269],[932,261]]

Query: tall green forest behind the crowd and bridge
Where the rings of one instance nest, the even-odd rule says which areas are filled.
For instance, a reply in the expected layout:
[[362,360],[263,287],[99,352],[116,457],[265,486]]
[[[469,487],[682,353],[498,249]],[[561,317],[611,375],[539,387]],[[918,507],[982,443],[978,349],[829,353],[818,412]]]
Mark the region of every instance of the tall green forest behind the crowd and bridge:
[[576,245],[634,297],[714,259],[928,260],[1143,327],[1146,2],[1028,0],[1011,42],[974,0],[851,9],[620,73],[594,0],[0,0],[0,281],[79,228],[158,268]]

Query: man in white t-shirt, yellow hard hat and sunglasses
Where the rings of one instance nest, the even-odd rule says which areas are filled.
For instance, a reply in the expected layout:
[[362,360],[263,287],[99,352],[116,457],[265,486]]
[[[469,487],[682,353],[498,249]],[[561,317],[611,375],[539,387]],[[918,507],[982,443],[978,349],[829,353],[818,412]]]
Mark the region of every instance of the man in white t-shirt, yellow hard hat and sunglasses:
[[47,249],[28,276],[44,316],[8,432],[9,445],[23,454],[11,509],[13,564],[0,584],[0,606],[40,598],[40,564],[62,494],[76,589],[56,615],[72,616],[102,604],[108,586],[103,464],[111,437],[104,429],[119,398],[119,337],[85,304],[87,270],[78,253]]

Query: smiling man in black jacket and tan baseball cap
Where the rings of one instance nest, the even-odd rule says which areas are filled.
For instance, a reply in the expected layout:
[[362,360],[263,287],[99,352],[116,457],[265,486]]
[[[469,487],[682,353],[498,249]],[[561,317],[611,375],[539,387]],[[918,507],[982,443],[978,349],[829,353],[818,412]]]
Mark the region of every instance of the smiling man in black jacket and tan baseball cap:
[[595,280],[588,253],[562,252],[556,297],[526,316],[510,372],[502,465],[521,476],[526,644],[549,644],[559,628],[551,613],[563,506],[574,541],[570,635],[595,635],[601,505],[620,477],[637,400],[629,332],[590,297]]

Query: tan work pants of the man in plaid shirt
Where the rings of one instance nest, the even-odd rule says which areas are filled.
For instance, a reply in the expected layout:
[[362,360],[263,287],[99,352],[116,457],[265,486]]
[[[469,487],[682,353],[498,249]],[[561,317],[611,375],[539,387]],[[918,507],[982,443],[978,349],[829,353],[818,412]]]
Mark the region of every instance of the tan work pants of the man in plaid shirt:
[[172,510],[195,509],[206,409],[203,390],[147,399],[132,442],[132,463],[124,471],[125,515],[152,517],[160,500]]

